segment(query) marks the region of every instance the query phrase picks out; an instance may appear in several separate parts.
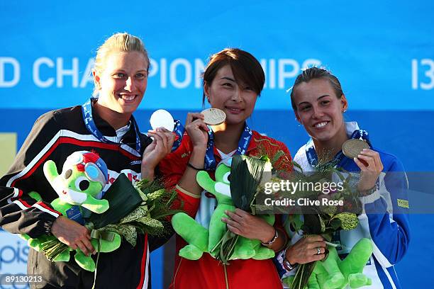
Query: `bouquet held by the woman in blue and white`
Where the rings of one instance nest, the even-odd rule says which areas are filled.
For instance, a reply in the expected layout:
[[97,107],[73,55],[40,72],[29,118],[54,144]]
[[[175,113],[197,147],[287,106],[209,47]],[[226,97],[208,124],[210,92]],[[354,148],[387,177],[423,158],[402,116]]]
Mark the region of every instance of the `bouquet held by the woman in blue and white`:
[[[289,181],[311,184],[307,188],[299,186],[291,192],[277,192],[279,198],[289,198],[294,200],[294,203],[300,199],[310,201],[309,205],[288,208],[290,214],[287,222],[294,231],[304,232],[304,237],[321,234],[326,242],[331,242],[335,232],[341,229],[355,229],[358,225],[357,215],[362,212],[362,205],[352,174],[337,169],[333,162],[319,164],[316,172],[304,172],[295,162],[294,166],[297,170],[289,176]],[[274,179],[274,181],[280,180]],[[339,183],[340,186],[338,189],[330,189],[330,186],[326,185],[330,183]],[[324,188],[327,188],[326,193]],[[301,221],[299,215],[303,215],[304,221]],[[315,266],[316,262],[301,264],[291,282],[291,288],[305,288]]]

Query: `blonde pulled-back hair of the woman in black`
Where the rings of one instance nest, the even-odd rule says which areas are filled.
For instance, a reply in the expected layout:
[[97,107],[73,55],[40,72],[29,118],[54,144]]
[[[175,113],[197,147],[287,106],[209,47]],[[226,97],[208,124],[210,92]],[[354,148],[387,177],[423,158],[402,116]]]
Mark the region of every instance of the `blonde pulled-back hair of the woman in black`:
[[[115,33],[104,41],[104,43],[96,50],[94,70],[101,74],[104,70],[105,60],[111,52],[140,52],[145,56],[148,62],[146,71],[149,72],[149,57],[148,51],[145,49],[143,41],[137,36],[128,33]],[[98,88],[94,88],[94,96],[98,94]]]

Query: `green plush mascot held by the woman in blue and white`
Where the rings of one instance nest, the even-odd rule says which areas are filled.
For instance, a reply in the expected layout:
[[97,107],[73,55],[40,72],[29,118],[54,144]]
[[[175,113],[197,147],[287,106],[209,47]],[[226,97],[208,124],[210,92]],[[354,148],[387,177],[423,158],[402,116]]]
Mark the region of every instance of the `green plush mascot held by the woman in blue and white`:
[[[338,251],[328,246],[329,254],[324,261],[316,261],[312,275],[308,279],[308,289],[360,288],[371,285],[372,280],[363,274],[363,268],[372,255],[372,242],[360,239],[352,247],[350,254],[340,260]],[[291,285],[294,276],[284,278],[286,285]]]

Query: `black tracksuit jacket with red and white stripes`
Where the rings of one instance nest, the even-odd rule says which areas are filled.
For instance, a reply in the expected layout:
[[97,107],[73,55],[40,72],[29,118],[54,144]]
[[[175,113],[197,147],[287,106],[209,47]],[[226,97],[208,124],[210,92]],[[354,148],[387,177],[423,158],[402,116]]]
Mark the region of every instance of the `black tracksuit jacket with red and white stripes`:
[[[109,123],[95,112],[93,117],[106,138],[116,136]],[[11,233],[28,234],[33,238],[50,232],[52,222],[60,212],[50,205],[58,196],[43,174],[43,164],[48,159],[57,164],[60,173],[69,154],[88,150],[99,154],[108,166],[106,188],[121,173],[131,180],[140,178],[141,155],[152,141],[146,135],[140,135],[140,139],[142,152],[136,152],[135,130],[130,125],[121,145],[99,141],[85,127],[81,106],[50,111],[40,116],[11,169],[0,179],[0,226]],[[36,203],[28,196],[30,191],[40,193],[43,201]],[[149,288],[149,252],[166,241],[140,234],[136,246],[122,242],[116,251],[101,254],[96,288]],[[73,255],[69,262],[52,262],[33,249],[28,254],[28,273],[43,276],[43,283],[33,284],[33,288],[91,288],[94,282],[94,273],[80,268]]]

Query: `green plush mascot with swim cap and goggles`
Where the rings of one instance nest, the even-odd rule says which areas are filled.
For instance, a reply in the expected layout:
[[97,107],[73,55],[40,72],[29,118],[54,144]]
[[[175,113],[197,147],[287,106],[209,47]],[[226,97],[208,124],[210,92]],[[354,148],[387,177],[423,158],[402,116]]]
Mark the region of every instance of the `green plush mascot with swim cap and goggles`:
[[[61,212],[65,217],[74,220],[74,216],[81,216],[80,206],[99,214],[109,209],[109,202],[101,199],[101,191],[106,185],[108,170],[106,163],[97,154],[87,151],[74,152],[63,164],[62,174],[57,174],[56,164],[52,161],[45,162],[43,169],[45,177],[59,195],[59,198],[51,202],[52,208]],[[36,192],[30,192],[29,195],[35,200],[42,200]],[[26,234],[21,237],[28,240],[28,246],[36,251],[42,251],[46,242],[56,239],[54,236],[46,235],[37,239],[32,239]],[[113,233],[111,237],[113,238],[100,239],[100,252],[111,252],[121,246],[119,234]],[[97,248],[98,240],[91,239],[91,244]],[[64,251],[53,261],[69,261],[69,250]],[[80,249],[76,250],[74,259],[85,270],[95,271],[94,260],[84,255]]]

